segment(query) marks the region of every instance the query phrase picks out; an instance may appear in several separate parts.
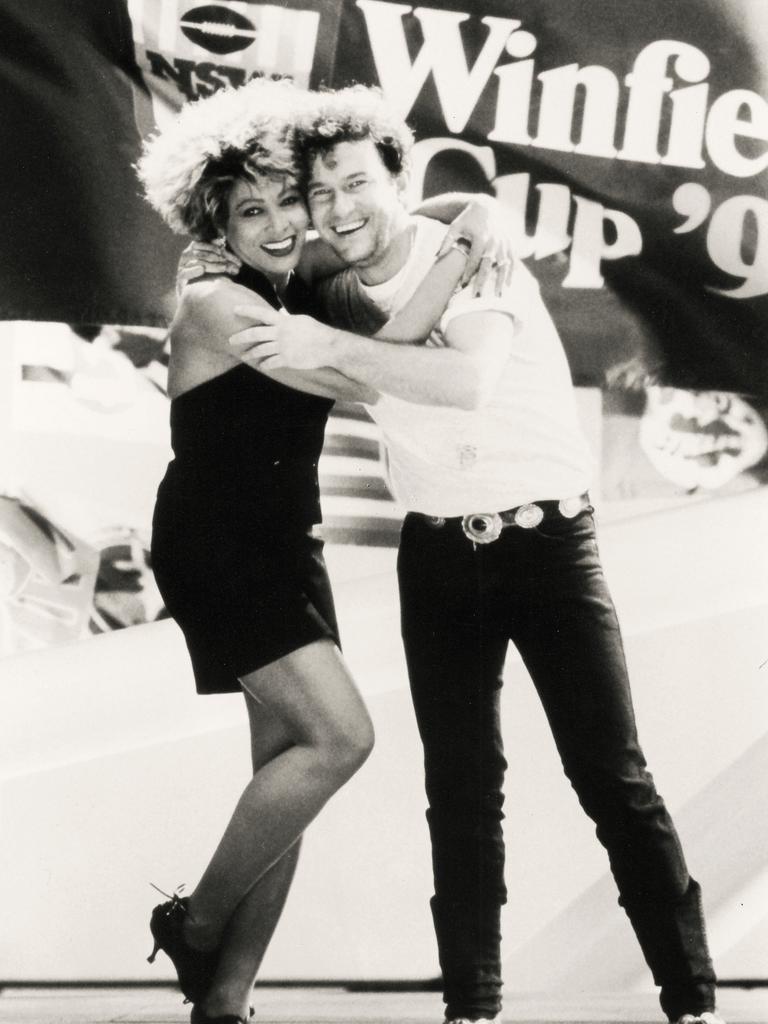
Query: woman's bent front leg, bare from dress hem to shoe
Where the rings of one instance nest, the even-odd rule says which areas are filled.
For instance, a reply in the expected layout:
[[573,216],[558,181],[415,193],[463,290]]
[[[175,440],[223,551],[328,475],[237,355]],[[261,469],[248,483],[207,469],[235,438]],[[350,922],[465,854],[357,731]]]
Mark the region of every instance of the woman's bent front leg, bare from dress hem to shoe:
[[373,746],[368,711],[336,646],[308,644],[242,680],[293,741],[246,786],[189,898],[187,939],[216,946],[243,897],[288,851]]

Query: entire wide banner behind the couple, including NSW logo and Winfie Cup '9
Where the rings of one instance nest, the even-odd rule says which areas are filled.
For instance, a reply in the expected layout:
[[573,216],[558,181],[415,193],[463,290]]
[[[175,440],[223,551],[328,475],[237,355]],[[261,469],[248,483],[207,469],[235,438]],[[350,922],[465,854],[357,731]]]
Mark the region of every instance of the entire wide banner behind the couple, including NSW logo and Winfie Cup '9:
[[153,120],[253,75],[361,81],[416,131],[415,199],[504,203],[577,383],[768,386],[763,0],[3,0],[0,29],[6,318],[162,323]]

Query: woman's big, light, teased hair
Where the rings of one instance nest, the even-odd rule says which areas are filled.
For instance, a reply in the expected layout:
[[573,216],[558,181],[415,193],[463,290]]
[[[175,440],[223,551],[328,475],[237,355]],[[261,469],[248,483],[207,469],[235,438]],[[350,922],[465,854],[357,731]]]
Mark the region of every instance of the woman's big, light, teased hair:
[[307,101],[287,80],[254,79],[187,103],[144,144],[136,171],[146,199],[177,233],[212,242],[238,179],[297,177],[294,126]]

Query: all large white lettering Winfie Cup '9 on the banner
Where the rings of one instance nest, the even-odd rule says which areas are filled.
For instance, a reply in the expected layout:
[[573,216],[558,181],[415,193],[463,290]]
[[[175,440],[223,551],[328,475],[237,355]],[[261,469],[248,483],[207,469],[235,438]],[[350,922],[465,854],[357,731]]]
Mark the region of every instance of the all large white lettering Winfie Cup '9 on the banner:
[[[768,100],[748,89],[732,89],[710,103],[707,79],[712,65],[690,43],[674,39],[648,43],[624,82],[600,65],[568,63],[537,73],[531,54],[538,40],[522,29],[522,22],[483,17],[487,33],[470,68],[462,38],[469,13],[388,0],[356,0],[356,5],[366,22],[381,87],[402,117],[411,113],[431,75],[452,133],[465,131],[486,88],[495,84],[490,142],[692,170],[706,168],[708,157],[718,170],[739,178],[768,169]],[[423,36],[414,56],[404,22],[409,15],[419,23]],[[512,60],[502,62],[505,55]],[[622,126],[618,117],[625,109]],[[739,145],[741,140],[751,144]],[[765,145],[756,144],[761,142]],[[570,249],[563,287],[599,288],[604,260],[642,251],[642,233],[633,217],[554,183],[535,185],[538,210],[530,233],[529,175],[497,178],[488,146],[456,138],[421,140],[415,151],[420,193],[429,162],[451,148],[471,155],[488,183],[494,183],[509,210],[520,256],[543,259]],[[672,205],[685,218],[672,230],[685,233],[710,217],[712,199],[702,185],[688,182],[677,189]],[[767,200],[756,196],[726,200],[712,214],[706,245],[715,266],[740,279],[740,284],[731,289],[705,287],[734,299],[768,293]]]

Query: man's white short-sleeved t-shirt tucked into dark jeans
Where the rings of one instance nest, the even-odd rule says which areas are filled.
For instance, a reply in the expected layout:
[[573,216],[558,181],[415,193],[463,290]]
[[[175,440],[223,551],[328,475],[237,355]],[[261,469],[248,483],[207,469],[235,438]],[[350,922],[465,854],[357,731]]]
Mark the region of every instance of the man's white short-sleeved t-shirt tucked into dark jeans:
[[[414,217],[416,238],[404,266],[362,290],[393,315],[434,262],[446,230]],[[389,455],[392,490],[409,511],[435,516],[499,512],[527,502],[572,498],[590,484],[592,458],[577,414],[570,372],[557,330],[526,267],[515,263],[501,297],[450,300],[427,341],[445,346],[457,316],[499,310],[510,314],[511,351],[490,399],[478,410],[422,406],[383,394],[368,407]]]

